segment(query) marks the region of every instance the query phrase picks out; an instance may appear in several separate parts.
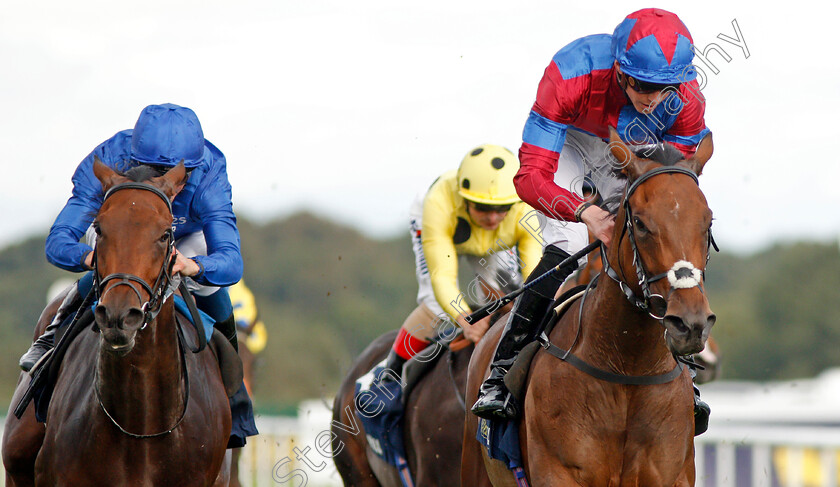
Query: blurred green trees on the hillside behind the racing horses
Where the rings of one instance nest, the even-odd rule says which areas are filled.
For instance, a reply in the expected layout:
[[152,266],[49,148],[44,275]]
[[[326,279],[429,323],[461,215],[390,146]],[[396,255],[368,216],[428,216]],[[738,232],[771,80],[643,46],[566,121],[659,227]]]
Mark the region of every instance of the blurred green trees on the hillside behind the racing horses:
[[[303,398],[331,397],[353,358],[415,306],[408,232],[373,240],[308,213],[264,225],[239,223],[245,281],[269,332],[257,369],[257,408],[289,411]],[[48,287],[71,276],[46,262],[43,242],[39,236],[0,251],[4,404]],[[840,365],[836,243],[715,254],[707,289],[718,316],[712,334],[722,349],[724,378],[808,377]]]

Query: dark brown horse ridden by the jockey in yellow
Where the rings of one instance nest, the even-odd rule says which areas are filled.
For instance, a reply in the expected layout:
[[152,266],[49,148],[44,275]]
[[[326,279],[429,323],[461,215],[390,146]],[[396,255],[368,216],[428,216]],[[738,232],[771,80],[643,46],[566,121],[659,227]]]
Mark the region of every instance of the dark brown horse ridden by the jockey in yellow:
[[[368,446],[364,427],[356,416],[354,397],[356,379],[385,358],[396,336],[396,331],[388,332],[362,352],[335,398],[332,431],[337,439],[333,442],[333,451],[338,454],[334,461],[347,487],[402,485],[396,469],[385,464]],[[443,355],[411,392],[403,435],[406,460],[417,486],[461,485],[462,401],[473,348],[470,343],[459,351],[441,350]]]

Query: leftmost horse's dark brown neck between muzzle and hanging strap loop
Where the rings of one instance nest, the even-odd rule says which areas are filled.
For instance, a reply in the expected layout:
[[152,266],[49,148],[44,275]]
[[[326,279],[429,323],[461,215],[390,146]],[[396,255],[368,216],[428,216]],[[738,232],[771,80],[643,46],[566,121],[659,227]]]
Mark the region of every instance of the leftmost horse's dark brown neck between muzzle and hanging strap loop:
[[137,332],[127,355],[99,350],[96,387],[102,405],[128,431],[157,431],[171,426],[181,414],[185,384],[176,326],[170,299]]

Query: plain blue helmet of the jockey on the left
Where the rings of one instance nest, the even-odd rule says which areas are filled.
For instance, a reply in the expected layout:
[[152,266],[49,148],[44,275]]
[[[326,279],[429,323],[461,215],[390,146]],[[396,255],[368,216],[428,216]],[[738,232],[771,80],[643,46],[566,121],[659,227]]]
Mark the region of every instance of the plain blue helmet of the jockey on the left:
[[131,158],[144,163],[187,168],[204,157],[204,132],[195,112],[166,103],[149,105],[140,113],[131,135]]

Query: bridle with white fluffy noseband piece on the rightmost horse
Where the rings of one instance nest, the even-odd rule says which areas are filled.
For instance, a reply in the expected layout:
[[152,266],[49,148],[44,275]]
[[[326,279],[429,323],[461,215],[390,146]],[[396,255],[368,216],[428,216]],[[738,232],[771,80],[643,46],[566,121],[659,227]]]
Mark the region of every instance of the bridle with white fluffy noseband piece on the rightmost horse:
[[[604,248],[603,244],[601,244],[601,262],[604,264],[604,273],[607,274],[612,280],[618,283],[621,291],[627,297],[627,299],[633,303],[634,306],[645,311],[648,313],[653,319],[657,321],[662,321],[665,318],[665,307],[666,300],[660,294],[652,294],[650,292],[650,285],[660,279],[668,277],[669,281],[671,282],[671,289],[684,289],[690,287],[697,287],[702,292],[703,288],[700,287],[700,283],[704,279],[705,269],[696,269],[690,262],[680,261],[674,264],[670,270],[663,272],[661,274],[656,274],[655,276],[648,277],[647,272],[645,271],[645,266],[642,263],[642,256],[639,254],[638,246],[636,245],[636,235],[634,232],[633,226],[633,210],[630,207],[630,196],[638,189],[639,186],[648,179],[657,176],[659,174],[684,174],[690,177],[696,184],[700,184],[697,175],[694,174],[693,171],[680,167],[680,166],[662,166],[652,169],[644,174],[642,174],[638,179],[633,181],[630,187],[627,189],[627,194],[624,197],[624,228],[622,229],[621,236],[618,239],[618,245],[621,245],[621,239],[624,238],[624,235],[627,235],[627,239],[630,242],[630,248],[633,250],[633,268],[636,270],[636,277],[638,278],[639,287],[642,288],[642,297],[636,295],[630,286],[625,282],[625,279],[618,275],[616,270],[610,266],[609,262],[607,261],[607,251]],[[718,247],[715,243],[714,238],[712,237],[712,231],[709,230],[709,241],[707,244],[707,249],[714,247],[717,251]],[[710,252],[707,250],[706,252],[706,263],[709,262]],[[623,273],[622,273],[623,274]],[[657,306],[659,305],[659,306]],[[657,309],[654,308],[661,308],[662,316],[657,314]]]

